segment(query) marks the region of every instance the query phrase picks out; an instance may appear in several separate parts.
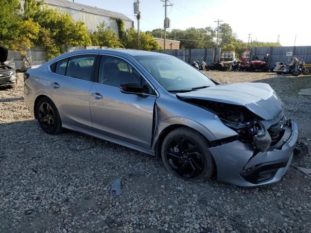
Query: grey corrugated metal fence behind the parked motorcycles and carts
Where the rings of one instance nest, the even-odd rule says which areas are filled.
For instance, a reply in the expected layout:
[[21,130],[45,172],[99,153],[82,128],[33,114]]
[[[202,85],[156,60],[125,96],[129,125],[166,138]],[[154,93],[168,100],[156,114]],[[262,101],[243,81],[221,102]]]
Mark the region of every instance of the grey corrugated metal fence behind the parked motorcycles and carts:
[[[205,58],[207,64],[217,62],[219,60],[219,49],[185,49],[185,50],[154,50],[178,57],[188,63],[192,59],[199,62],[201,58]],[[269,54],[268,66],[272,67],[276,62],[289,62],[292,57],[286,56],[287,52],[293,52],[299,60],[304,60],[306,64],[311,64],[311,46],[289,46],[289,47],[254,47],[250,49],[250,60],[253,54]],[[241,56],[241,54],[239,54]]]

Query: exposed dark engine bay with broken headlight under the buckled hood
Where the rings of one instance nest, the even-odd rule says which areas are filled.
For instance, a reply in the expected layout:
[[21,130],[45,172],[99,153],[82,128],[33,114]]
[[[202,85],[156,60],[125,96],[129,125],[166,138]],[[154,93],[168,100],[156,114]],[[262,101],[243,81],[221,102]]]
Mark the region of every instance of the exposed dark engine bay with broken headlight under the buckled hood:
[[181,98],[181,100],[217,115],[227,127],[238,133],[237,140],[252,144],[257,151],[275,149],[276,147],[273,146],[284,134],[282,120],[270,126],[269,129],[265,129],[260,122],[264,119],[242,105],[199,99]]

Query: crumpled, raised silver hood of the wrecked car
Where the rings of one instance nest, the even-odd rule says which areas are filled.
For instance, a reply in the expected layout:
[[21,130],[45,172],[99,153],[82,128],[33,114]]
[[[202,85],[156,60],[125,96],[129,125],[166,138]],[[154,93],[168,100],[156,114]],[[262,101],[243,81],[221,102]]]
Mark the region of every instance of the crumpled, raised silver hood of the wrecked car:
[[283,110],[282,101],[266,83],[228,83],[197,91],[177,93],[178,97],[210,100],[245,106],[265,120],[274,119]]

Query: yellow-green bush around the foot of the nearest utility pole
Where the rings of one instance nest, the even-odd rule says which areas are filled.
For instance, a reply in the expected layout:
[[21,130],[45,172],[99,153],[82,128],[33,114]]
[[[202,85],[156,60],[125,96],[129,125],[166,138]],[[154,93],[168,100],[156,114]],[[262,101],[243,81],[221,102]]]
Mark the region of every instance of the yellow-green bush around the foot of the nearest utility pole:
[[[159,50],[161,47],[156,42],[150,32],[139,33],[139,49],[140,50]],[[127,49],[138,49],[138,32],[134,28],[127,31],[125,46]]]

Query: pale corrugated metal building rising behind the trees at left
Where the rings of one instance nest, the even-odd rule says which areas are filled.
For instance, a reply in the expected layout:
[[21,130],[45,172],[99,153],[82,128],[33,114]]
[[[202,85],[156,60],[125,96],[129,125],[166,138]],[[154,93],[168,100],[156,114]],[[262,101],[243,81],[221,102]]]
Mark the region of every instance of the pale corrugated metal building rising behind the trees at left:
[[[123,19],[125,31],[129,28],[134,28],[134,21],[118,12],[87,6],[68,0],[44,0],[44,3],[50,9],[69,14],[74,21],[84,22],[89,32],[97,31],[97,27],[101,23],[104,23],[106,28],[108,27],[118,34],[118,24],[114,18]],[[24,12],[24,4],[25,0],[20,0],[22,12]]]

